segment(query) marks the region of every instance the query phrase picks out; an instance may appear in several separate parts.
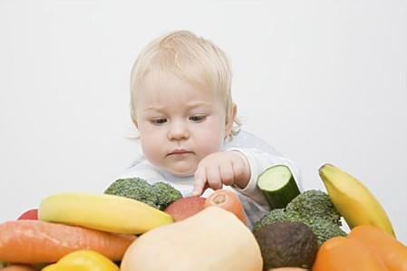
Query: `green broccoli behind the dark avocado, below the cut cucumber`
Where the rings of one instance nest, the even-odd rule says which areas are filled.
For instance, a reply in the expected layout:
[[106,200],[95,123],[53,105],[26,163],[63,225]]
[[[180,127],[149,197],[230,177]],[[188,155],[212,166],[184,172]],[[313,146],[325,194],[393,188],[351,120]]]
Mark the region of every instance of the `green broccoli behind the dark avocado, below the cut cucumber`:
[[254,224],[253,230],[277,221],[303,222],[314,231],[322,245],[331,237],[346,236],[338,213],[328,195],[320,190],[307,190],[293,198],[286,208],[276,208]]

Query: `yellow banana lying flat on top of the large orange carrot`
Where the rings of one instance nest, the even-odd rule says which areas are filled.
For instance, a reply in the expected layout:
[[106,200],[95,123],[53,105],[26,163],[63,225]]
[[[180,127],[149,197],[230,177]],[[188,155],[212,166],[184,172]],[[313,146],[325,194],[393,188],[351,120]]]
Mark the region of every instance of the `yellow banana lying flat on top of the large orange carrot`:
[[141,201],[88,193],[61,193],[44,198],[38,215],[48,222],[125,234],[141,234],[173,222],[169,214]]

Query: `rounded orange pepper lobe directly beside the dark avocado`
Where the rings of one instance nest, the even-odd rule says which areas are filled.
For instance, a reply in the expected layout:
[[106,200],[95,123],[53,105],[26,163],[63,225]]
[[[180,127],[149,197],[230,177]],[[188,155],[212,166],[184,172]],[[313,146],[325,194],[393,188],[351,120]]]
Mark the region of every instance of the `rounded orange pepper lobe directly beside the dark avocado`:
[[333,237],[318,250],[313,271],[387,271],[382,260],[362,242]]

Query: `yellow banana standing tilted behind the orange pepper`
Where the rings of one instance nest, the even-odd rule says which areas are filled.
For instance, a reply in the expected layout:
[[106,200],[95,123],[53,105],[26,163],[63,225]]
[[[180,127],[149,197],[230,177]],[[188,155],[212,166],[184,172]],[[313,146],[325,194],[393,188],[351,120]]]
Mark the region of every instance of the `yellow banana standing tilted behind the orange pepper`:
[[319,169],[329,198],[350,228],[373,225],[395,237],[392,223],[382,205],[362,182],[344,170],[325,164]]

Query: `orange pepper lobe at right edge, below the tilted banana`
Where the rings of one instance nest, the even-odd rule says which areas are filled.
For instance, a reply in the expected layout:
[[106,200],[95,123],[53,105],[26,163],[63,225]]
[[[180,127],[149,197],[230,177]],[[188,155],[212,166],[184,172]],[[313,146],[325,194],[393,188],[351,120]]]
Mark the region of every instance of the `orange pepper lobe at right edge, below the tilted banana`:
[[407,271],[407,248],[379,227],[357,226],[348,237],[359,240],[379,256],[389,271]]

